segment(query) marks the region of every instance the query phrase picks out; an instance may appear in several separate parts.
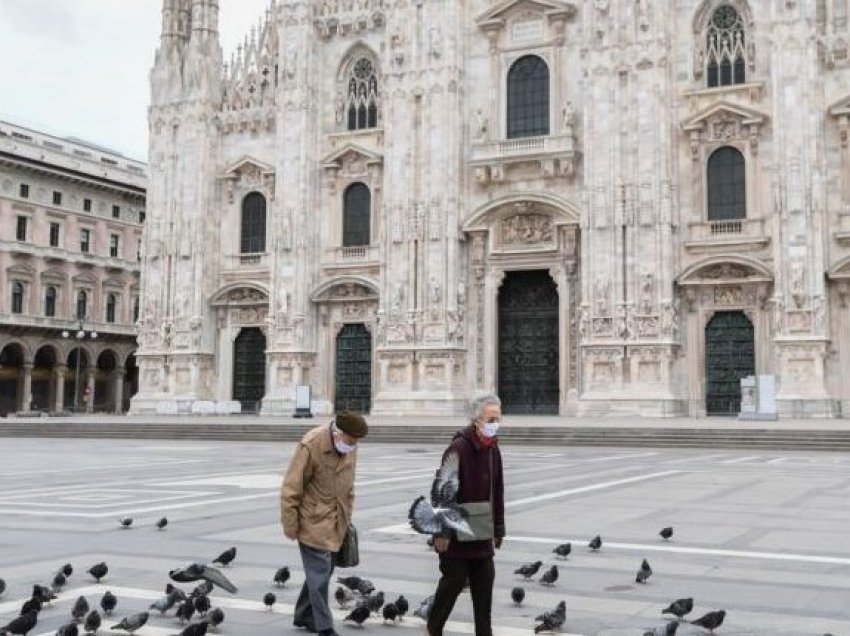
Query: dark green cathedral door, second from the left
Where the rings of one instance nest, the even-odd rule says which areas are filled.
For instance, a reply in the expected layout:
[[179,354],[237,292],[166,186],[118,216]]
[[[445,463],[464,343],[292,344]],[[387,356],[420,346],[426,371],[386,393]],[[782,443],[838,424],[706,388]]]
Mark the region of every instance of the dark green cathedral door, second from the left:
[[334,409],[368,413],[372,406],[372,335],[363,323],[344,325],[336,337]]

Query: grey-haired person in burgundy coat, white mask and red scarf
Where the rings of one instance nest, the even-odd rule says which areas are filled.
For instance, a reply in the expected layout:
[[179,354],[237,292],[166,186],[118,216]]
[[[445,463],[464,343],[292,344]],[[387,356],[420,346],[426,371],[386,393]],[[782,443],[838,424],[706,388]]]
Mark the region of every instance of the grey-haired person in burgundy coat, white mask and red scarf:
[[[446,450],[459,459],[460,504],[489,502],[492,528],[488,538],[460,541],[456,536],[439,536],[434,549],[440,556],[442,577],[428,616],[427,633],[442,636],[443,627],[454,608],[464,584],[469,581],[475,615],[475,636],[492,636],[490,614],[493,604],[493,567],[495,550],[505,536],[505,497],[502,480],[502,455],[497,434],[502,403],[495,395],[481,395],[470,402],[470,423],[457,432]],[[445,455],[444,455],[445,458]]]

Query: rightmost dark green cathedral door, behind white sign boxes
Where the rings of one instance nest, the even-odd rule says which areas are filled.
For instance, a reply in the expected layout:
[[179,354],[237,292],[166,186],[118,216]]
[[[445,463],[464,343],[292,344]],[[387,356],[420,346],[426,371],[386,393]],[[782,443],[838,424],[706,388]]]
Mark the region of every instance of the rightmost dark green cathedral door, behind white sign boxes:
[[740,311],[721,311],[705,328],[705,409],[708,415],[737,415],[741,379],[756,373],[753,323]]

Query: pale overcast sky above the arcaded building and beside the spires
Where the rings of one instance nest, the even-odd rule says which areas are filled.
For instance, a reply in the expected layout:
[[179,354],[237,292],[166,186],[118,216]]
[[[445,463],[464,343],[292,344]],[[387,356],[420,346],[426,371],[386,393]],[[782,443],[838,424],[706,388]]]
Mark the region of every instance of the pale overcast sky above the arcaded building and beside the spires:
[[[224,59],[268,0],[221,0]],[[0,0],[0,119],[147,161],[162,0]]]

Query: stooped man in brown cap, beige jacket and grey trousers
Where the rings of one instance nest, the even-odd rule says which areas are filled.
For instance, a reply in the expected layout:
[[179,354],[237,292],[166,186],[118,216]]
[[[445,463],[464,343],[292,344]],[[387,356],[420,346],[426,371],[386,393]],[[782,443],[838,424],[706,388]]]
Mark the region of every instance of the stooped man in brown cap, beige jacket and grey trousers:
[[337,636],[328,586],[354,509],[357,443],[368,430],[362,415],[339,413],[304,435],[283,478],[283,533],[298,541],[305,575],[293,624],[321,636]]

